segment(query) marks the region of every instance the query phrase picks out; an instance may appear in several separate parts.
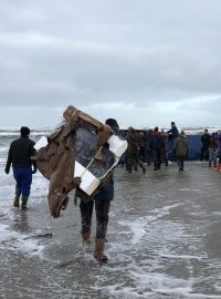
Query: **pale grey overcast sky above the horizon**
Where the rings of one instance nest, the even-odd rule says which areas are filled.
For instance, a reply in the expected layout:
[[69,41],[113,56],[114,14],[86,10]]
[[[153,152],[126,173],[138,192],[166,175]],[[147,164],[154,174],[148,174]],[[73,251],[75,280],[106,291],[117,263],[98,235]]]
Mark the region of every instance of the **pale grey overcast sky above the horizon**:
[[0,126],[69,105],[122,127],[221,125],[220,0],[1,0]]

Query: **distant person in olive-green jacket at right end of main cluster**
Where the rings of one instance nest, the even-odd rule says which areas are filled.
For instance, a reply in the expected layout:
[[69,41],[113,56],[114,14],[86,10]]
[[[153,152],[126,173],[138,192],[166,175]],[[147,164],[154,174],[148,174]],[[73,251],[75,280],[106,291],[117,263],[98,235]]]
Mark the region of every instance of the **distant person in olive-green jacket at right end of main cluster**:
[[187,136],[185,135],[185,131],[181,131],[180,135],[175,140],[173,153],[177,157],[179,171],[183,172],[185,159],[188,157],[189,154],[189,144],[187,141]]

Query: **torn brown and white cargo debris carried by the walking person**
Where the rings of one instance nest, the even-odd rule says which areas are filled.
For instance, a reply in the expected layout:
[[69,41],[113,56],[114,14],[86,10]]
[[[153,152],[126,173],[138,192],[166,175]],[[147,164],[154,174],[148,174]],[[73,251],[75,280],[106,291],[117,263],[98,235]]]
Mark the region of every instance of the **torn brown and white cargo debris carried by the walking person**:
[[69,193],[80,188],[92,196],[118,163],[127,142],[88,114],[69,106],[64,121],[36,144],[36,165],[50,181],[49,206],[53,217],[69,203]]

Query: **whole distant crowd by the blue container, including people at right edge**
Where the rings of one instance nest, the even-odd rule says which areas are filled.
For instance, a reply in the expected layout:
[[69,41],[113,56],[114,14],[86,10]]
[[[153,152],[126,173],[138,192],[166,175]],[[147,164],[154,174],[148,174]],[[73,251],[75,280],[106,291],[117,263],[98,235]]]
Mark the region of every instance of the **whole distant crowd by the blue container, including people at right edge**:
[[[168,161],[177,161],[178,169],[183,171],[185,159],[188,159],[190,146],[185,131],[178,131],[175,122],[168,131],[156,126],[154,130],[136,131],[128,127],[123,136],[128,142],[128,150],[120,158],[119,164],[126,167],[128,173],[137,172],[140,166],[143,173],[146,165],[154,165],[154,171],[159,171],[162,163],[168,166]],[[221,132],[209,134],[204,130],[201,136],[200,161],[207,161],[208,166],[221,171]],[[146,165],[145,165],[146,164]]]

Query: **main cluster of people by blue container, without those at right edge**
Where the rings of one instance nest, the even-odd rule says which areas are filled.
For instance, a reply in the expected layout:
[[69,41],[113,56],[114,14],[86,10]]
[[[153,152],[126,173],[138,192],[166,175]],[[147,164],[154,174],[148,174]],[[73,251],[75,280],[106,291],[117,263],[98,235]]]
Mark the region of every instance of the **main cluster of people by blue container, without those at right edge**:
[[189,144],[185,131],[179,134],[175,122],[171,122],[171,128],[167,132],[159,131],[158,126],[141,132],[129,127],[124,137],[128,142],[128,148],[120,158],[119,164],[125,165],[128,173],[137,172],[138,166],[140,166],[145,174],[145,163],[147,165],[152,163],[154,171],[159,171],[162,163],[168,166],[169,155],[170,159],[177,159],[179,171],[183,171],[183,162],[188,157]]

